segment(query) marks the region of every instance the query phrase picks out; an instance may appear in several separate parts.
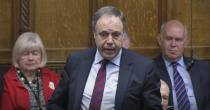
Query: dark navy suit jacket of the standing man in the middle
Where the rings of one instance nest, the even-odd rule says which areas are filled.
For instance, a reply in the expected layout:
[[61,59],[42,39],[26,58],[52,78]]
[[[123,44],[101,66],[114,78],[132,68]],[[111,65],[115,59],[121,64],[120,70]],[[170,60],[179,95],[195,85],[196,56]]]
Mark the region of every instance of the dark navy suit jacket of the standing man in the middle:
[[[96,49],[71,54],[59,85],[48,102],[48,110],[80,110],[83,91]],[[160,79],[154,62],[122,49],[115,110],[160,110]]]

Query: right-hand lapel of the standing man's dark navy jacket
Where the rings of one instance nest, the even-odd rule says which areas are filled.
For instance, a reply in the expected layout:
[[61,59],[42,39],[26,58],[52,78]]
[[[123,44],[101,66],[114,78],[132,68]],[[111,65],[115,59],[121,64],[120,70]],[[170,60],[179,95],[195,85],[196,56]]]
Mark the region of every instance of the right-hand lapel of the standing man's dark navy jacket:
[[115,110],[118,110],[120,108],[120,105],[122,105],[122,101],[124,98],[124,94],[126,92],[126,88],[128,86],[128,81],[131,76],[131,68],[132,63],[131,60],[128,59],[128,55],[126,55],[126,50],[123,49],[121,60],[120,60],[120,70],[119,70],[119,77],[118,77],[118,85],[117,85],[117,91],[115,96]]

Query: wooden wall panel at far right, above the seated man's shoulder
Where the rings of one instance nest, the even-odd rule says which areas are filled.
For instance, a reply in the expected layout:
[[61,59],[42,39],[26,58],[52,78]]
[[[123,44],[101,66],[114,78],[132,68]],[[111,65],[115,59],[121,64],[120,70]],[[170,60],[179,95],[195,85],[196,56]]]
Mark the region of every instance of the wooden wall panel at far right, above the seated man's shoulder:
[[193,44],[196,47],[200,47],[203,49],[206,47],[208,48],[210,47],[209,10],[210,10],[210,0],[193,1],[193,10],[192,10]]

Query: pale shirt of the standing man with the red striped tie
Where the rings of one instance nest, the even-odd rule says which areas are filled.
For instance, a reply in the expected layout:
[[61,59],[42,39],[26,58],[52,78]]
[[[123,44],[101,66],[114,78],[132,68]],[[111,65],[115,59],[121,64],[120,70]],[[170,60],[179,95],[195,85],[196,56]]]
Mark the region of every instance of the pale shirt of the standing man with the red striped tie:
[[[122,53],[122,49],[120,50],[119,54],[106,65],[106,83],[105,83],[103,98],[101,102],[101,110],[114,110],[121,53]],[[93,64],[92,64],[92,67],[91,67],[91,70],[90,70],[90,73],[89,73],[89,76],[85,85],[85,89],[83,92],[81,110],[89,109],[96,76],[97,76],[98,70],[101,67],[101,61],[103,59],[104,58],[101,56],[101,54],[97,50],[95,59],[93,61]]]

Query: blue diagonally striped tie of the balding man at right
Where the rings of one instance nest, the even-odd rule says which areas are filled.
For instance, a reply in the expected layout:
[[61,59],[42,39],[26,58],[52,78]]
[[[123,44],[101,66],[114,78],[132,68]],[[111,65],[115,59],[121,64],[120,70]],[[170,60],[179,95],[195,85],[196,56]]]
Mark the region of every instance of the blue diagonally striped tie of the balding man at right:
[[188,99],[187,91],[185,89],[185,84],[177,71],[177,62],[171,63],[173,66],[173,76],[174,76],[174,87],[176,90],[176,97],[179,110],[190,110],[190,102]]

